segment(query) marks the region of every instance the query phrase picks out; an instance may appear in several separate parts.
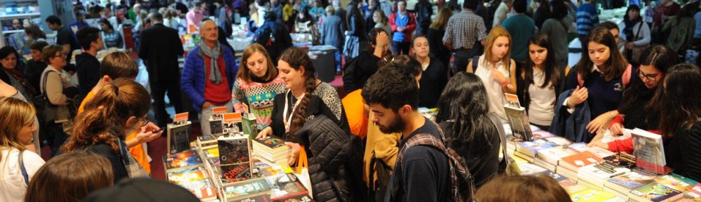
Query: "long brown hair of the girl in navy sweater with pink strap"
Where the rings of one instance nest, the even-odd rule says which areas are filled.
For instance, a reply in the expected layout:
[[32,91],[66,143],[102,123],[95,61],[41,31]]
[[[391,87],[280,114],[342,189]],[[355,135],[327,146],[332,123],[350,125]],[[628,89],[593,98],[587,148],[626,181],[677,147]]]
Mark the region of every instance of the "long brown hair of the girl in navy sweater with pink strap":
[[[615,39],[613,39],[613,35],[608,31],[608,28],[594,28],[587,34],[586,38],[589,42],[608,46],[608,53],[611,54],[611,56],[608,57],[608,61],[606,61],[604,65],[606,68],[599,67],[599,70],[603,72],[604,79],[606,79],[606,81],[611,81],[622,76],[628,65],[628,61],[618,52],[618,46],[615,43]],[[587,80],[589,74],[592,74],[592,68],[594,68],[594,62],[589,58],[589,46],[585,44],[582,46],[582,59],[577,63],[577,73],[582,76],[582,79]]]

